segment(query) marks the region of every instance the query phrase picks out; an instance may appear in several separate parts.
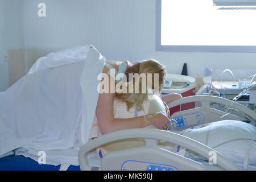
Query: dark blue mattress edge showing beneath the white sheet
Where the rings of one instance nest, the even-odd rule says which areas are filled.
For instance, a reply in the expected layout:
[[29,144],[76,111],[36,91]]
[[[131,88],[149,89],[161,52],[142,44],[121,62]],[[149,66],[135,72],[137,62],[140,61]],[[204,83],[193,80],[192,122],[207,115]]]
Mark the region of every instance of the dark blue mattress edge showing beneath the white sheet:
[[[38,164],[23,155],[10,155],[0,158],[0,171],[59,171],[59,166]],[[79,166],[69,166],[68,171],[80,171]]]

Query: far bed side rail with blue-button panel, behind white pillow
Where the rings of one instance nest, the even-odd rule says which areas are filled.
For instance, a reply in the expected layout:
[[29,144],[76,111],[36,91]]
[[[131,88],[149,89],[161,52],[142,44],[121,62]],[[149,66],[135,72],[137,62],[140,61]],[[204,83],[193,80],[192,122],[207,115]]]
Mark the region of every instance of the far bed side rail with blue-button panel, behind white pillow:
[[[191,96],[184,97],[181,100],[176,100],[168,104],[168,107],[174,107],[177,105],[185,104],[188,102],[200,102],[200,107],[196,107],[189,110],[179,111],[171,115],[171,118],[177,121],[176,128],[172,127],[172,131],[181,131],[184,129],[188,129],[189,127],[195,127],[201,125],[203,123],[210,123],[214,121],[220,120],[237,120],[237,121],[248,121],[251,122],[252,125],[256,125],[256,113],[247,107],[238,104],[236,102],[232,102],[228,99],[216,97],[216,96]],[[233,109],[238,110],[241,115],[238,117],[237,115],[229,114],[221,110],[214,109],[210,107],[210,104],[214,102],[217,104],[232,106]],[[222,117],[225,115],[225,117]]]

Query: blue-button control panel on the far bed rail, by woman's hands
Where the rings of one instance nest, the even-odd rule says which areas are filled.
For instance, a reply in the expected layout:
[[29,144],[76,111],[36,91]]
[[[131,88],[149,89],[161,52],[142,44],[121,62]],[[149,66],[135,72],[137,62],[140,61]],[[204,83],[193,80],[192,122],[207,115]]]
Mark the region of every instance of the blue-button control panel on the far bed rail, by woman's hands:
[[202,124],[204,122],[204,115],[202,113],[192,113],[180,115],[173,118],[177,123],[176,126],[172,126],[176,129],[181,129],[183,127],[190,127]]

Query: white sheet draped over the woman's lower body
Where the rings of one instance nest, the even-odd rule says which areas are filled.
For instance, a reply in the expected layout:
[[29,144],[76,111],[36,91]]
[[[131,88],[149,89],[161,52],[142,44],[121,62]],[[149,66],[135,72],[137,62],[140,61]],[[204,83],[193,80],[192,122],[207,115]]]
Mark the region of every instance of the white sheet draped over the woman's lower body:
[[[93,47],[84,57],[73,57],[69,64],[59,60],[54,68],[38,67],[0,93],[0,156],[20,147],[30,154],[77,152],[88,142],[98,98],[97,76],[105,58]],[[70,163],[67,156],[59,156],[56,164]]]

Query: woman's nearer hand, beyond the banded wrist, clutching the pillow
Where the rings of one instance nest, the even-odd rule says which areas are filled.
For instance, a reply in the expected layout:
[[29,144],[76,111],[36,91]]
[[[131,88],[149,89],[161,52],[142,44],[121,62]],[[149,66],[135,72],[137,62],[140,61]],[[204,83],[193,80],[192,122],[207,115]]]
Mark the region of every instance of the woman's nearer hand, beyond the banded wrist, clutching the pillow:
[[150,125],[156,126],[160,130],[167,130],[169,127],[170,119],[166,115],[160,113],[147,118]]

